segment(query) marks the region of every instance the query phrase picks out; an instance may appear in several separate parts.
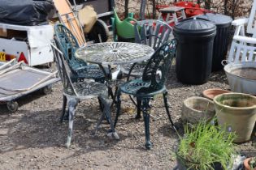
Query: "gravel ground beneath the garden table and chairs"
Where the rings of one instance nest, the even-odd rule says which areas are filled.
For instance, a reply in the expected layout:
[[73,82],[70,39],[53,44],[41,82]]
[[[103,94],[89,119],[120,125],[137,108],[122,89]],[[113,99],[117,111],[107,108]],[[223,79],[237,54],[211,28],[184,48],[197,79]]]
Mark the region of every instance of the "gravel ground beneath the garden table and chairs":
[[[179,83],[172,68],[167,81],[171,116],[183,134],[180,120],[182,101],[189,96],[200,96],[210,87],[228,89],[223,71],[211,74],[210,80],[198,86]],[[0,105],[0,169],[173,169],[178,136],[171,129],[163,108],[162,97],[152,103],[150,138],[154,147],[144,147],[144,122],[134,119],[132,102],[123,96],[123,113],[116,130],[119,141],[106,136],[109,125],[103,122],[98,134],[91,135],[100,117],[98,100],[79,104],[74,121],[72,146],[63,146],[67,137],[67,121],[59,123],[62,107],[62,84],[55,83],[50,95],[34,92],[18,100],[20,108],[8,113]],[[114,114],[113,110],[113,116]],[[237,148],[247,155],[255,154],[255,131],[252,140]],[[254,152],[253,152],[254,151]]]

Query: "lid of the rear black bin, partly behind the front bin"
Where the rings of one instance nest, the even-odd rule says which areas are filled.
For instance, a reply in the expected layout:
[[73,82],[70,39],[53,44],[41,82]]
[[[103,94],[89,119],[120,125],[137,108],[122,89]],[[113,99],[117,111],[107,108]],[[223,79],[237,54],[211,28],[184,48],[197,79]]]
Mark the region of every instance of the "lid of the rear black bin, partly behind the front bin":
[[221,15],[221,14],[213,14],[213,13],[206,13],[204,15],[197,16],[199,19],[208,19],[211,22],[215,23],[217,27],[228,27],[232,23],[232,18],[228,15]]

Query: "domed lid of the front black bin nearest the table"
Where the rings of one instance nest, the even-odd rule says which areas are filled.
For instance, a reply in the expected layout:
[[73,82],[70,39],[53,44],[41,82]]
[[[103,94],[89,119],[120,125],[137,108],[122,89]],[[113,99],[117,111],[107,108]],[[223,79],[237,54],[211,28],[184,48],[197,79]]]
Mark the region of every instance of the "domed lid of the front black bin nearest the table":
[[207,36],[216,32],[216,26],[206,19],[188,18],[177,23],[173,32],[182,36]]

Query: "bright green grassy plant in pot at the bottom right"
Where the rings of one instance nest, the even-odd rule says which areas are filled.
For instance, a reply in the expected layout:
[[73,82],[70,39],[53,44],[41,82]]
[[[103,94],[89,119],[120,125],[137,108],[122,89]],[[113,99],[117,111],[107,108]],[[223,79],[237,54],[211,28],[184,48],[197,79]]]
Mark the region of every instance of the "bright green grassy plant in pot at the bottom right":
[[192,127],[185,125],[184,138],[180,138],[176,150],[179,169],[228,169],[236,154],[234,138],[234,133],[205,121]]

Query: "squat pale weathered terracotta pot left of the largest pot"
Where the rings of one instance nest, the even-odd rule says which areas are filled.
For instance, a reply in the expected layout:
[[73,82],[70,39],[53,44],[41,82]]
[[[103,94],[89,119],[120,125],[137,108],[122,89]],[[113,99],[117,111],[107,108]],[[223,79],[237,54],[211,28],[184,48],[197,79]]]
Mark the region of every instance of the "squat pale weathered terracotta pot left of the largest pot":
[[198,121],[209,121],[215,116],[215,105],[211,100],[204,97],[189,97],[184,100],[181,119],[190,123],[198,123]]

